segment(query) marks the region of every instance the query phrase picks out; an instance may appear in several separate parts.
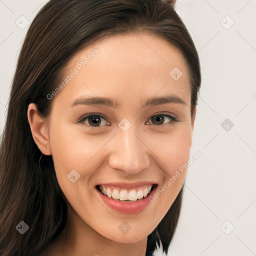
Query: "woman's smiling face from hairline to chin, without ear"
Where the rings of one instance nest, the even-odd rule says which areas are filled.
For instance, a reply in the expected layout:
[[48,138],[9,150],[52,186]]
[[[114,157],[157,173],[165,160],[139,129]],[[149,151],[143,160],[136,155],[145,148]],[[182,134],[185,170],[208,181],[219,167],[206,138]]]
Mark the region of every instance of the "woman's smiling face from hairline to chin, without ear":
[[179,51],[155,35],[111,36],[71,59],[48,95],[49,148],[84,228],[129,243],[157,226],[185,178],[178,168],[191,147],[190,96]]

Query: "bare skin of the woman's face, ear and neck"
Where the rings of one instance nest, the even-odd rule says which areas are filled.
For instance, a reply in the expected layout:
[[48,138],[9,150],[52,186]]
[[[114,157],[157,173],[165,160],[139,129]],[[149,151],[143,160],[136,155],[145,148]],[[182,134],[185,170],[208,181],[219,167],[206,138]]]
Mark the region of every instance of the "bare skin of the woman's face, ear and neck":
[[[77,63],[95,48],[98,53],[78,70]],[[188,161],[195,109],[191,119],[184,59],[160,37],[130,33],[87,46],[69,61],[66,75],[74,67],[78,73],[51,99],[47,118],[38,114],[33,103],[27,109],[33,139],[43,154],[52,155],[57,181],[71,205],[67,225],[45,252],[52,256],[145,255],[147,236],[176,198],[186,169],[136,214],[121,213],[105,205],[95,185],[154,181],[160,188]],[[169,75],[174,67],[182,72],[177,80]],[[147,99],[169,94],[185,104],[142,107]],[[72,106],[82,96],[110,97],[119,105]],[[97,128],[88,118],[78,122],[88,113],[102,116]],[[177,121],[163,116],[158,124],[152,118],[158,113],[174,116]],[[118,126],[123,118],[131,124],[126,131]],[[72,169],[80,175],[74,183],[67,178]],[[118,228],[123,221],[131,227],[127,233]]]

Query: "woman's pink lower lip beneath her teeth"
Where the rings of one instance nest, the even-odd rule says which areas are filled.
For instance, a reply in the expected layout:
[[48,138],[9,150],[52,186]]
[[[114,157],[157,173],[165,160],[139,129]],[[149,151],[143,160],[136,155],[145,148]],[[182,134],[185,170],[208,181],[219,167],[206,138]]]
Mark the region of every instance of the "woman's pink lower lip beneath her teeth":
[[146,197],[143,197],[137,201],[130,201],[130,202],[115,200],[111,197],[108,197],[107,195],[102,194],[97,188],[95,189],[98,191],[99,196],[102,198],[103,202],[107,206],[121,213],[131,214],[131,213],[137,213],[141,211],[146,207],[146,205],[150,203],[149,196],[154,193],[154,191],[156,190],[156,187],[157,186],[155,186]]

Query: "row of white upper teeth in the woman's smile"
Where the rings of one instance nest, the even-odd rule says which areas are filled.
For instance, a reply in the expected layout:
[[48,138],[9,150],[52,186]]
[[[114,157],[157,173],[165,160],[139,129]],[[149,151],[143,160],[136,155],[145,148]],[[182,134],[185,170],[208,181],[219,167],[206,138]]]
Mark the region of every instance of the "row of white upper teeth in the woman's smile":
[[99,190],[103,194],[107,195],[108,197],[112,197],[113,199],[116,199],[116,200],[119,199],[121,201],[124,201],[124,200],[136,201],[137,199],[146,197],[149,194],[151,188],[152,188],[152,185],[141,186],[138,188],[131,188],[131,189],[99,185]]

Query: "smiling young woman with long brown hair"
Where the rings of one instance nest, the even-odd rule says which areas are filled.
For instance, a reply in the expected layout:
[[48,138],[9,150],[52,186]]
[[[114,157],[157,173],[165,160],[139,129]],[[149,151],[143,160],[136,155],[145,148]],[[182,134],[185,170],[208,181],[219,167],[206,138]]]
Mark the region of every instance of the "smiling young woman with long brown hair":
[[31,23],[0,151],[0,255],[153,255],[177,225],[200,87],[160,0],[50,0]]

